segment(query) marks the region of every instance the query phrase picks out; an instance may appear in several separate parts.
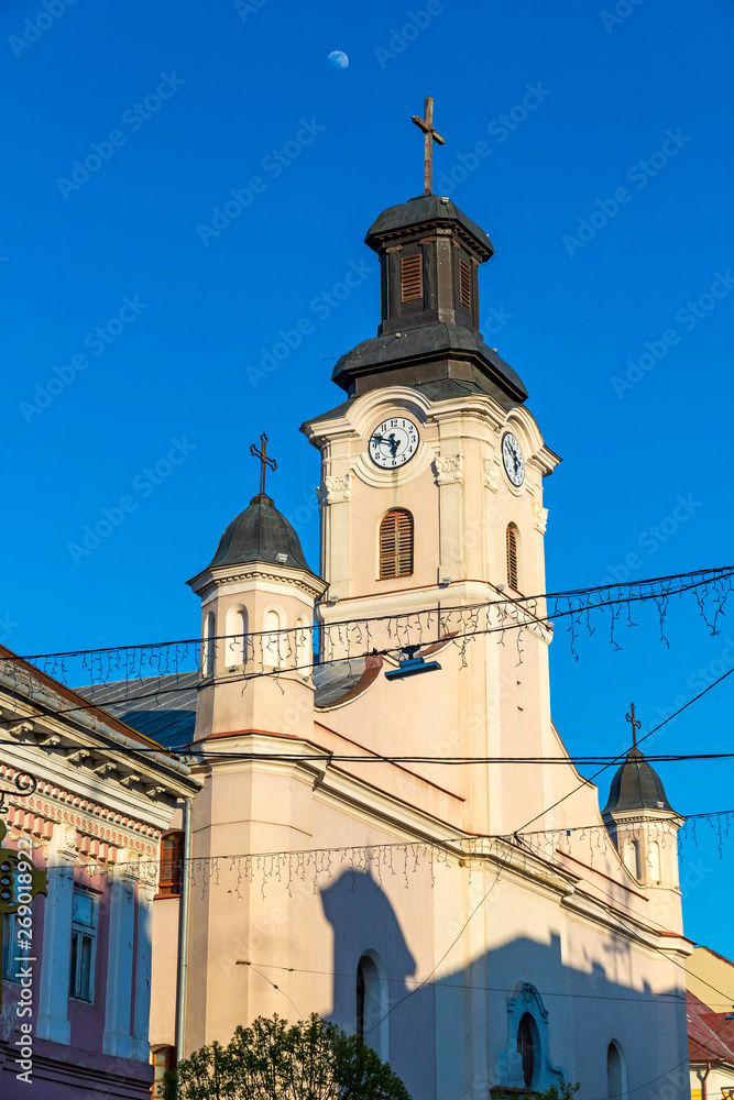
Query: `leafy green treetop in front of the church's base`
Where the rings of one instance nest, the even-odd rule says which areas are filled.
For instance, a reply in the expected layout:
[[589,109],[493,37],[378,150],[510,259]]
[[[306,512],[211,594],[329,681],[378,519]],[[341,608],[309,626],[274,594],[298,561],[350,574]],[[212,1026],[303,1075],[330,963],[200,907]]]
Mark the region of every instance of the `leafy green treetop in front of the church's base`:
[[316,1013],[260,1016],[179,1062],[164,1088],[166,1100],[410,1100],[371,1047]]

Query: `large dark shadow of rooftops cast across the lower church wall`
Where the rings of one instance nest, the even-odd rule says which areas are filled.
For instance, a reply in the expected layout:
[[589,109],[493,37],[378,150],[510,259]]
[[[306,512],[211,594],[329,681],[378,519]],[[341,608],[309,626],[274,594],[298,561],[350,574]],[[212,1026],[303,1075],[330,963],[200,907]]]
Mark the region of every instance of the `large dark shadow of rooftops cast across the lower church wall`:
[[[415,920],[412,892],[405,891],[406,908]],[[401,921],[369,873],[346,871],[321,900],[335,943],[330,1019],[347,1032],[363,1032],[414,1100],[487,1100],[487,1090],[541,1091],[561,1080],[581,1082],[579,1100],[690,1094],[682,969],[680,986],[676,968],[673,988],[653,998],[647,982],[639,988],[634,957],[618,937],[605,941],[603,965],[589,958],[577,969],[563,964],[560,937],[548,933],[540,942],[539,930],[539,941],[499,943],[447,974],[446,966],[462,957],[460,941],[442,977],[418,989],[412,980],[418,966]],[[506,910],[502,915],[506,927]],[[427,902],[414,937],[416,956],[428,945],[420,976],[435,964],[432,922]],[[492,908],[484,924],[491,935]],[[442,930],[441,942],[460,927],[449,936]],[[585,953],[577,946],[574,954]],[[612,975],[632,975],[637,988]]]

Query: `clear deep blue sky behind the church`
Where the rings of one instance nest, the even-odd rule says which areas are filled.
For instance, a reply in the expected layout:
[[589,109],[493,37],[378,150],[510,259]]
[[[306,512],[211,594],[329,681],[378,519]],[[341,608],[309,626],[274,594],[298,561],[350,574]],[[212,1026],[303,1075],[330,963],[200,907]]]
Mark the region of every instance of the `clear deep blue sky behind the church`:
[[[563,457],[546,484],[549,590],[731,562],[730,0],[48,4],[10,0],[0,41],[7,645],[190,637],[184,582],[255,491],[263,430],[316,564],[318,455],[297,429],[339,403],[333,362],[374,333],[362,239],[421,189],[409,120],[425,95],[447,139],[440,189],[452,179],[496,249],[480,276],[490,343]],[[75,554],[103,509],[120,521]],[[676,604],[670,649],[653,609],[637,622],[622,652],[599,629],[578,662],[559,630],[571,751],[620,750],[631,698],[645,733],[734,662],[734,600],[716,638]],[[725,749],[731,684],[656,748]],[[731,765],[662,774],[683,813],[732,801]],[[687,931],[734,954],[732,845],[720,859],[705,828],[684,848]]]

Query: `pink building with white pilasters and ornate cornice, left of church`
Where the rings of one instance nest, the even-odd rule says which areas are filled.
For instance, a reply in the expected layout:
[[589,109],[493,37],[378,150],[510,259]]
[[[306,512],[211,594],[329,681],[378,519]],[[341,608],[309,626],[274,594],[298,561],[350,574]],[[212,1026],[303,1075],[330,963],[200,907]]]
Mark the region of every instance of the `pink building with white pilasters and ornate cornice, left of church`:
[[0,712],[0,740],[15,741],[0,748],[3,847],[48,880],[30,920],[3,922],[0,1097],[144,1100],[162,838],[199,784],[155,741],[4,647]]

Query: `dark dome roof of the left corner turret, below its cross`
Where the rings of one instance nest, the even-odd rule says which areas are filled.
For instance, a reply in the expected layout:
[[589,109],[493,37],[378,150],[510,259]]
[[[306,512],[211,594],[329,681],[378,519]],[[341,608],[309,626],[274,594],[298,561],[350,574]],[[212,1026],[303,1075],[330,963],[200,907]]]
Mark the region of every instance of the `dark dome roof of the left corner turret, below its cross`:
[[[286,561],[278,562],[278,554],[285,554]],[[264,493],[253,496],[250,507],[229,525],[219,540],[209,569],[213,565],[239,565],[249,561],[291,565],[292,569],[311,572],[298,536]]]

